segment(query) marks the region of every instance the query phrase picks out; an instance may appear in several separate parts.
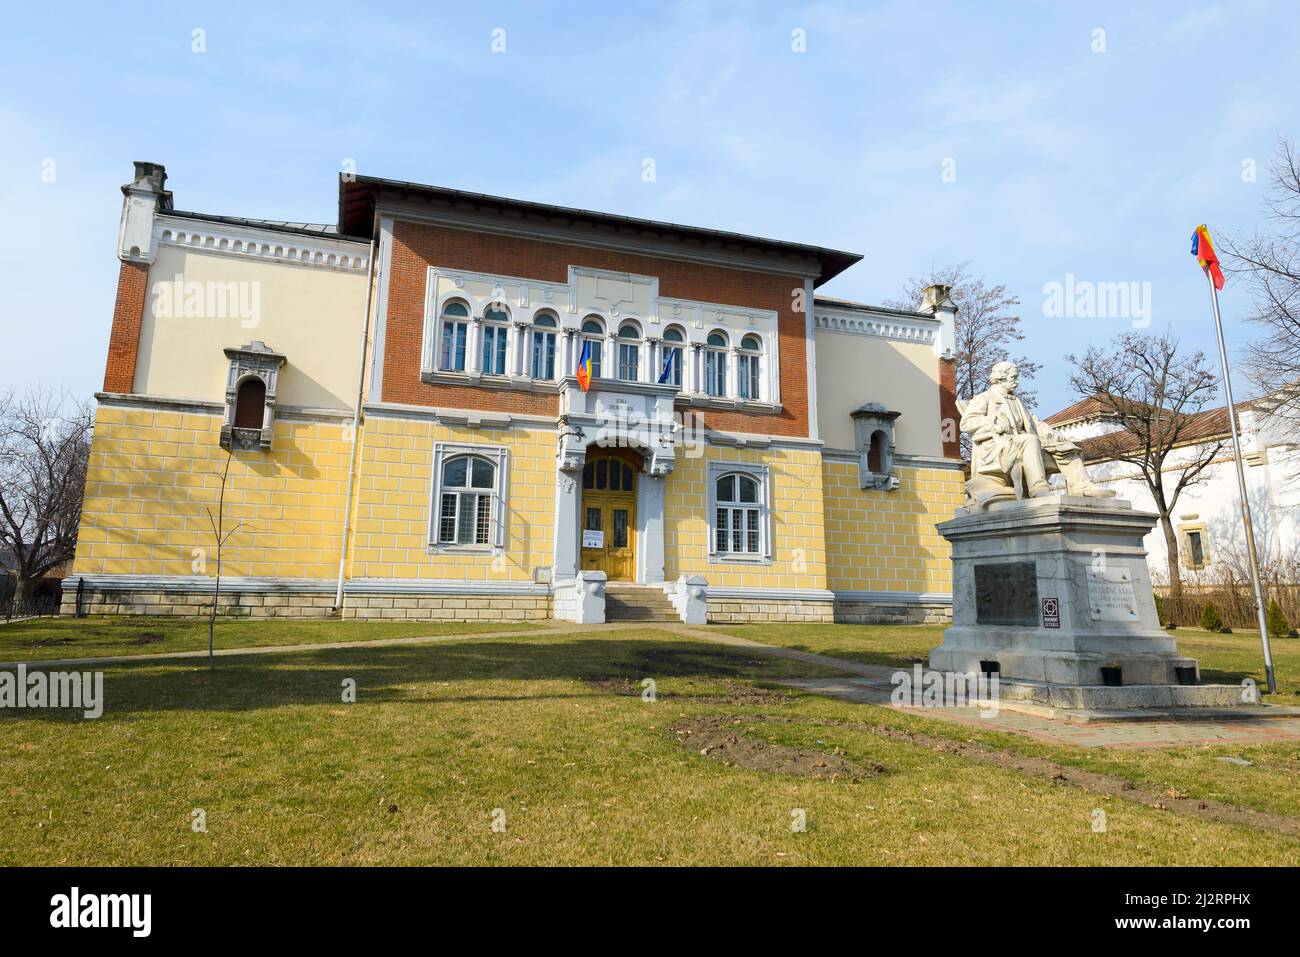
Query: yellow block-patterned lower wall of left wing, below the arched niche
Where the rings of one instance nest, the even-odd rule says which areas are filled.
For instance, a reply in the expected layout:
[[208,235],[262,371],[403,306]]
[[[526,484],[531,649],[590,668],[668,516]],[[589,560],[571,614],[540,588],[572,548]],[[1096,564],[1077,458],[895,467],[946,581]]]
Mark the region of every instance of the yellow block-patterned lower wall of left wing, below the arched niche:
[[[338,572],[350,442],[343,421],[276,423],[269,452],[235,452],[222,575]],[[226,451],[221,417],[101,404],[95,416],[74,575],[212,575]]]

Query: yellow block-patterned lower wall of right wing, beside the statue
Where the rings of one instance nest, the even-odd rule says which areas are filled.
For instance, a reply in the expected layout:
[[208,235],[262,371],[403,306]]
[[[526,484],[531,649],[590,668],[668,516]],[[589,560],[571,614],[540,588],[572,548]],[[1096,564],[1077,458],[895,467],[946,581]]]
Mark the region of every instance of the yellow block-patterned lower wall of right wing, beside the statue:
[[823,464],[826,544],[835,559],[835,592],[952,592],[948,542],[935,529],[965,502],[965,480],[952,468],[896,468],[898,488],[858,488],[858,464]]

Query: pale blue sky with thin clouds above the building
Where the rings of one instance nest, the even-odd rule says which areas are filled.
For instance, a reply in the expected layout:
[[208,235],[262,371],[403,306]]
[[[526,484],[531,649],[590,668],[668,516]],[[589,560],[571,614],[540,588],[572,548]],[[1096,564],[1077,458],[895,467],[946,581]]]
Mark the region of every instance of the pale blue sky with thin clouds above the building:
[[[334,222],[355,160],[845,248],[866,259],[822,291],[866,302],[970,260],[1020,296],[1050,412],[1062,356],[1130,322],[1049,317],[1044,283],[1149,282],[1152,329],[1210,351],[1188,237],[1253,229],[1277,137],[1300,138],[1300,17],[1264,0],[46,3],[6,12],[0,72],[0,389],[87,397],[136,159],[202,212]],[[1247,307],[1230,285],[1231,342]]]

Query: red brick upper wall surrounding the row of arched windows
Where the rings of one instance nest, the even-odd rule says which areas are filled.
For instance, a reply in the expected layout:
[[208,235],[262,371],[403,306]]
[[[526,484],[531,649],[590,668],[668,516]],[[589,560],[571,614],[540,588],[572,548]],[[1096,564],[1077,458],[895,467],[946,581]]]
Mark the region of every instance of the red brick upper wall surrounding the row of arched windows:
[[[451,267],[497,276],[567,282],[568,267],[610,269],[659,277],[659,294],[725,303],[777,313],[781,361],[780,413],[701,410],[705,424],[724,432],[807,436],[807,332],[794,312],[801,280],[745,269],[658,259],[566,243],[493,235],[413,222],[396,222],[387,280],[387,325],[384,339],[384,400],[415,406],[447,406],[532,415],[556,415],[554,395],[429,385],[420,381],[428,269]],[[571,372],[566,369],[566,373]]]

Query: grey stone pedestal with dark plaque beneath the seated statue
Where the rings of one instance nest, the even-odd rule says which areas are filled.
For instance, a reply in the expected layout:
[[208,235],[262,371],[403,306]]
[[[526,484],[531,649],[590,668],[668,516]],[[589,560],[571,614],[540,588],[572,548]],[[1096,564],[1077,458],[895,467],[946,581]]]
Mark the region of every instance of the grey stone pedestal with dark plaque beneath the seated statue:
[[[1127,502],[1070,495],[959,510],[937,527],[953,546],[953,627],[930,666],[996,670],[1030,690],[1095,687],[1067,696],[1083,707],[1106,697],[1102,668],[1119,668],[1123,685],[1199,685],[1196,661],[1178,653],[1156,614],[1143,547],[1156,521]],[[1128,707],[1171,701],[1167,690],[1123,697]],[[1175,697],[1197,703],[1191,688]]]

